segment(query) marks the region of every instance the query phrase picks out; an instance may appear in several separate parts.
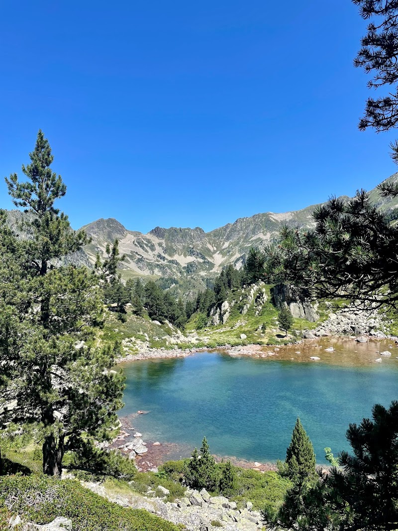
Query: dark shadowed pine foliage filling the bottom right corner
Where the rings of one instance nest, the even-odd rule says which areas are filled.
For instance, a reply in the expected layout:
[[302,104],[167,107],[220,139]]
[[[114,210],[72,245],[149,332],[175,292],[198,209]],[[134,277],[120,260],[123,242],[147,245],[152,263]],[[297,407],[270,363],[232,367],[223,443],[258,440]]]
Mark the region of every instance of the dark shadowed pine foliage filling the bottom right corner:
[[398,402],[375,405],[373,419],[350,424],[352,453],[342,452],[343,469],[320,474],[315,483],[298,481],[281,509],[267,510],[272,527],[299,531],[392,531],[398,523]]

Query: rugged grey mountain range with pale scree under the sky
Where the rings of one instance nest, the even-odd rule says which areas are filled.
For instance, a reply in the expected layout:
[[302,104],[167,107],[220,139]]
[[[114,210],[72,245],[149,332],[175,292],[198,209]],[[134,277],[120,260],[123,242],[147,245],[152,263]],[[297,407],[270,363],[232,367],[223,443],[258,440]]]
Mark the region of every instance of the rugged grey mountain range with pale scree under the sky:
[[[398,181],[398,173],[386,181]],[[398,207],[398,199],[380,198],[377,188],[370,191],[370,197],[387,210]],[[207,233],[200,227],[155,227],[148,234],[142,234],[128,230],[114,218],[101,218],[82,227],[91,236],[91,243],[71,260],[90,265],[97,252],[104,256],[106,245],[117,238],[120,253],[125,254],[120,264],[123,278],[163,277],[167,279],[165,287],[183,284],[185,290],[195,290],[228,264],[238,269],[242,267],[250,247],[270,242],[284,224],[313,226],[312,213],[318,206],[284,213],[259,213]],[[23,214],[18,210],[10,211],[10,225],[16,227],[20,216]]]

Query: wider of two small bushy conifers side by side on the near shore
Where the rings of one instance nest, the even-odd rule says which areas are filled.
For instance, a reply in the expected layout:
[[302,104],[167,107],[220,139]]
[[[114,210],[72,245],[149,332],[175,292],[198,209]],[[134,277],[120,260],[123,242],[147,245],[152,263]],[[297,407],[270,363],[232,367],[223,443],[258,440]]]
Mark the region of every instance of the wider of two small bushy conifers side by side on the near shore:
[[189,486],[194,489],[206,489],[214,491],[219,486],[220,476],[214,457],[209,450],[206,438],[202,441],[200,454],[197,448],[192,453],[185,469],[185,479]]

